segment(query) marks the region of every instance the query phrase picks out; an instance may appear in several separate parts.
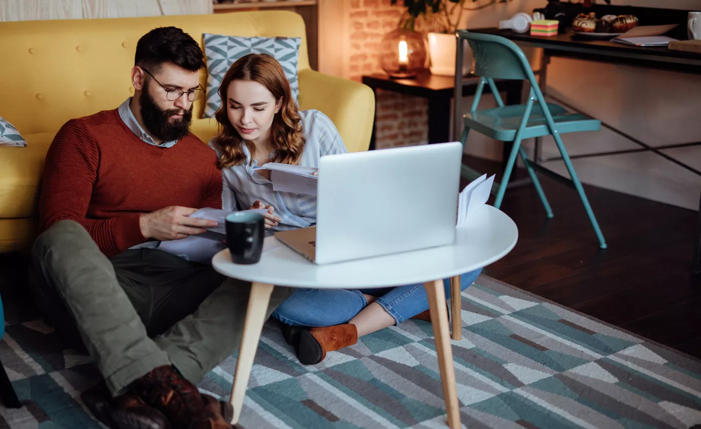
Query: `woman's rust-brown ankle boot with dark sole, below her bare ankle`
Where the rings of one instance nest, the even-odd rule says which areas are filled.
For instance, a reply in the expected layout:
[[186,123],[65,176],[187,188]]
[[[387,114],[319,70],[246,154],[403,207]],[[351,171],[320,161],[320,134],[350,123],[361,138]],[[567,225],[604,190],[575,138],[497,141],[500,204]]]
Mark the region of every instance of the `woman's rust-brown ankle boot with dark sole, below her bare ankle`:
[[297,358],[302,365],[315,365],[326,357],[327,351],[343,349],[358,342],[358,329],[352,323],[311,328],[299,336]]

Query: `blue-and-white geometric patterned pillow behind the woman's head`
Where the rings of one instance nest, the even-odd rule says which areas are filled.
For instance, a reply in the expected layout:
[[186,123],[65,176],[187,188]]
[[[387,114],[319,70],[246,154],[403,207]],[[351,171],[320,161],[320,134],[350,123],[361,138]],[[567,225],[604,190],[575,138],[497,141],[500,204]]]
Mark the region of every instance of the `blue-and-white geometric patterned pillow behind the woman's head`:
[[231,64],[244,55],[268,54],[278,60],[287,80],[290,81],[292,99],[299,96],[299,37],[240,37],[220,34],[203,34],[207,57],[207,102],[204,118],[211,118],[222,105],[219,99],[219,83]]

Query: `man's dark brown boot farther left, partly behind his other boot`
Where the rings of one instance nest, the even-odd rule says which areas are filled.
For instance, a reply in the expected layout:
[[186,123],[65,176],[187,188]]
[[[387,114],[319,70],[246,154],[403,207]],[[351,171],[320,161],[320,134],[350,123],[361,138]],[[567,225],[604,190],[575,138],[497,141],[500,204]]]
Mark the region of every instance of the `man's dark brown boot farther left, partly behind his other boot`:
[[170,429],[165,416],[134,393],[112,398],[101,383],[81,393],[81,400],[110,429]]

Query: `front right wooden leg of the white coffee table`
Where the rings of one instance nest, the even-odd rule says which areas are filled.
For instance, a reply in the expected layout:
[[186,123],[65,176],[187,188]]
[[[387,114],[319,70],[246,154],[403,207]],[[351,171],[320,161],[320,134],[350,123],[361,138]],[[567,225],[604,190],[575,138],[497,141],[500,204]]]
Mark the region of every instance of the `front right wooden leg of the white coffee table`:
[[453,365],[453,350],[450,345],[448,309],[445,305],[445,290],[443,281],[428,281],[423,283],[428,295],[433,337],[435,338],[438,368],[443,386],[443,399],[448,414],[448,426],[451,429],[461,428],[458,391],[455,382],[455,366]]

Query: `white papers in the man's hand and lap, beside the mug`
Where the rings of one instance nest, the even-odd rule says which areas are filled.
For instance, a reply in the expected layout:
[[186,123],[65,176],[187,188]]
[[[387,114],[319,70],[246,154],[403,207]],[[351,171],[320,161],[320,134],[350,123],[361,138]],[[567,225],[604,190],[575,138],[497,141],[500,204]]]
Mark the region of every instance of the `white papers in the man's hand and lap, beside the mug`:
[[[252,213],[265,214],[266,209],[243,210]],[[210,264],[212,256],[226,248],[224,239],[226,238],[226,215],[231,211],[222,209],[199,209],[190,215],[191,218],[216,220],[217,226],[207,228],[207,232],[203,234],[191,235],[184,239],[161,241],[158,246],[159,251],[170,253],[171,255],[180,256],[191,262],[199,262],[200,264]]]

